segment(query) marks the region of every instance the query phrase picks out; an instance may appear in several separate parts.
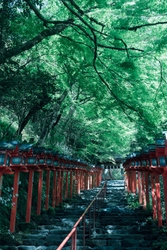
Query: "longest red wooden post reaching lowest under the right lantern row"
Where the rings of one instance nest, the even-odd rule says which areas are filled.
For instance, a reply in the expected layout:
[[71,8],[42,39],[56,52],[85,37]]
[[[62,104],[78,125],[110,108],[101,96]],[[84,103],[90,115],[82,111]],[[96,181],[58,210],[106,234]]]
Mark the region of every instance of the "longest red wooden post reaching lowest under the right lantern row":
[[159,175],[155,175],[155,189],[157,197],[157,216],[158,216],[158,226],[162,226],[162,210],[161,210],[161,194],[160,194],[160,182]]

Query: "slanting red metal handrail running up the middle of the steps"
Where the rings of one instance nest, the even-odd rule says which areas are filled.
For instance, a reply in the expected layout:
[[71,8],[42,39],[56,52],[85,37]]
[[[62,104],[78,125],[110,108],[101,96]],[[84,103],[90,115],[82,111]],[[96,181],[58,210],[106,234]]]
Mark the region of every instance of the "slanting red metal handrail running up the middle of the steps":
[[74,224],[71,232],[66,236],[66,238],[62,241],[62,243],[58,246],[58,248],[56,250],[61,250],[71,237],[74,237],[74,240],[72,239],[72,242],[71,242],[71,250],[76,250],[76,235],[75,234],[76,234],[77,226],[79,225],[79,223],[81,222],[81,220],[84,218],[84,216],[86,215],[86,213],[88,212],[88,210],[91,208],[91,206],[93,205],[93,203],[96,201],[96,199],[98,198],[98,196],[101,194],[101,192],[106,188],[106,185],[107,185],[107,181],[105,181],[105,183],[103,184],[103,186],[100,189],[100,191],[97,193],[97,195],[91,201],[91,203],[89,204],[89,206],[85,209],[85,211],[83,212],[83,214],[81,215],[81,217]]

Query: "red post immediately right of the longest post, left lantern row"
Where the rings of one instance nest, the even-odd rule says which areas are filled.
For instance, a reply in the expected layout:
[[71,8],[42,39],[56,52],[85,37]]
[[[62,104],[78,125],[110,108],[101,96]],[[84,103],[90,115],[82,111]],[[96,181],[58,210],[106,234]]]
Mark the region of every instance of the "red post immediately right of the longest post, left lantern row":
[[29,180],[28,180],[28,194],[27,194],[27,208],[26,208],[26,222],[30,222],[31,218],[31,203],[32,203],[32,190],[33,190],[33,180],[34,180],[34,169],[29,170]]

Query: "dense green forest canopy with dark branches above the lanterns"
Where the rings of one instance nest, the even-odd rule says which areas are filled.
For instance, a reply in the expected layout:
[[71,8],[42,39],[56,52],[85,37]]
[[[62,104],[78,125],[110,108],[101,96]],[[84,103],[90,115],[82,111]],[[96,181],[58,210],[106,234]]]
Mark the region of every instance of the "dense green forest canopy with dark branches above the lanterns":
[[167,2],[2,0],[0,140],[88,161],[167,129]]

